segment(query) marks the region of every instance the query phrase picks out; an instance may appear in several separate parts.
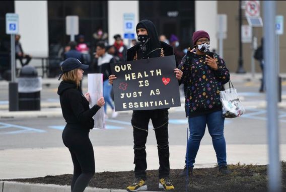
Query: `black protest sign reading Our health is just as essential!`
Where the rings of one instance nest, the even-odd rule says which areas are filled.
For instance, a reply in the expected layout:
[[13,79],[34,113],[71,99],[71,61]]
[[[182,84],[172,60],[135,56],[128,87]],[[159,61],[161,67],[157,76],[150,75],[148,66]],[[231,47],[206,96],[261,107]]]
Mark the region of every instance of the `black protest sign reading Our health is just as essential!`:
[[115,111],[181,106],[175,56],[111,64]]

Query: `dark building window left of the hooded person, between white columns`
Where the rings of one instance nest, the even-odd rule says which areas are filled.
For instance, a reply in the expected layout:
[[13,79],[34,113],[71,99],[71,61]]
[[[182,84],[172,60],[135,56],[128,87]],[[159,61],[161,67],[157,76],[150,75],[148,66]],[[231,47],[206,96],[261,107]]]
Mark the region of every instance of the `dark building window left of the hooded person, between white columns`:
[[[48,1],[50,47],[68,44],[70,36],[65,35],[65,17],[72,15],[79,16],[79,33],[85,36],[85,41],[93,50],[93,34],[97,28],[100,27],[104,32],[108,32],[107,1]],[[53,52],[50,50],[50,55]]]

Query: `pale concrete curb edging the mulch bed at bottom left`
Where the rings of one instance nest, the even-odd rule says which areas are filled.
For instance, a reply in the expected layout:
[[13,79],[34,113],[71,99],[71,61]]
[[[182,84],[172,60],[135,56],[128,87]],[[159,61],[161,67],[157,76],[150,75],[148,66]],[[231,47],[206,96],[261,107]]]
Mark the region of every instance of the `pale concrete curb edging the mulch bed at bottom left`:
[[[70,192],[70,186],[56,184],[32,184],[15,181],[1,181],[0,191],[2,192]],[[125,189],[108,189],[87,187],[86,192],[126,192]],[[156,191],[150,191],[156,192]]]

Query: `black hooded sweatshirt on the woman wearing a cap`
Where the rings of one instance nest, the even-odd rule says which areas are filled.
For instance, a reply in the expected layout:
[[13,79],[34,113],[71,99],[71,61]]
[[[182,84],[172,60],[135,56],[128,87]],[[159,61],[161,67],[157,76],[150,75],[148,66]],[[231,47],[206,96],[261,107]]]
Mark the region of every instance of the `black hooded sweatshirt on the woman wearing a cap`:
[[94,127],[93,116],[100,109],[98,105],[89,108],[89,102],[74,82],[61,81],[57,94],[66,127],[90,130]]

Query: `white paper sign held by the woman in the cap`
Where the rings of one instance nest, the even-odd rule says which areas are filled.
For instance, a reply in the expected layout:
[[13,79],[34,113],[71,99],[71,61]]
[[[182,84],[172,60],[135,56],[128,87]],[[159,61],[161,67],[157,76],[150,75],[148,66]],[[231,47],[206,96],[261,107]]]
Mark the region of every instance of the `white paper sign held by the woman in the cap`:
[[[103,95],[103,74],[88,73],[88,92],[90,93],[90,107],[96,105],[97,100]],[[105,129],[104,107],[93,116],[94,128]]]

